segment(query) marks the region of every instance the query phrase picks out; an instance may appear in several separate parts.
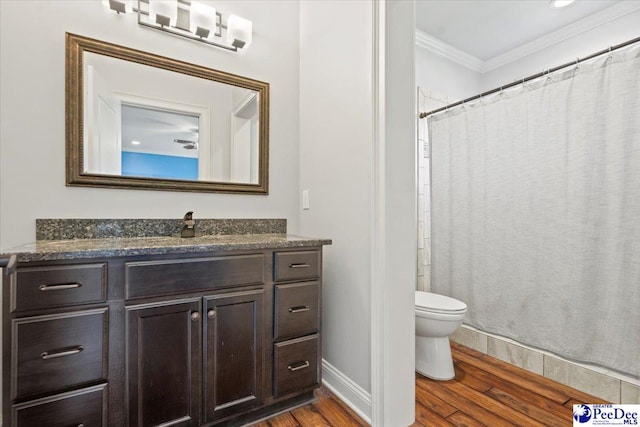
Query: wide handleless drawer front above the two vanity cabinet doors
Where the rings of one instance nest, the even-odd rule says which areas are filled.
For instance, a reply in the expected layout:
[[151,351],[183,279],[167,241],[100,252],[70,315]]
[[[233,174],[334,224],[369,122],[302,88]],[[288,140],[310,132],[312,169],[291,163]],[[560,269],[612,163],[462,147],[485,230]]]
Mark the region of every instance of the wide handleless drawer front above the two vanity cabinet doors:
[[128,262],[125,274],[127,299],[262,284],[264,256]]

